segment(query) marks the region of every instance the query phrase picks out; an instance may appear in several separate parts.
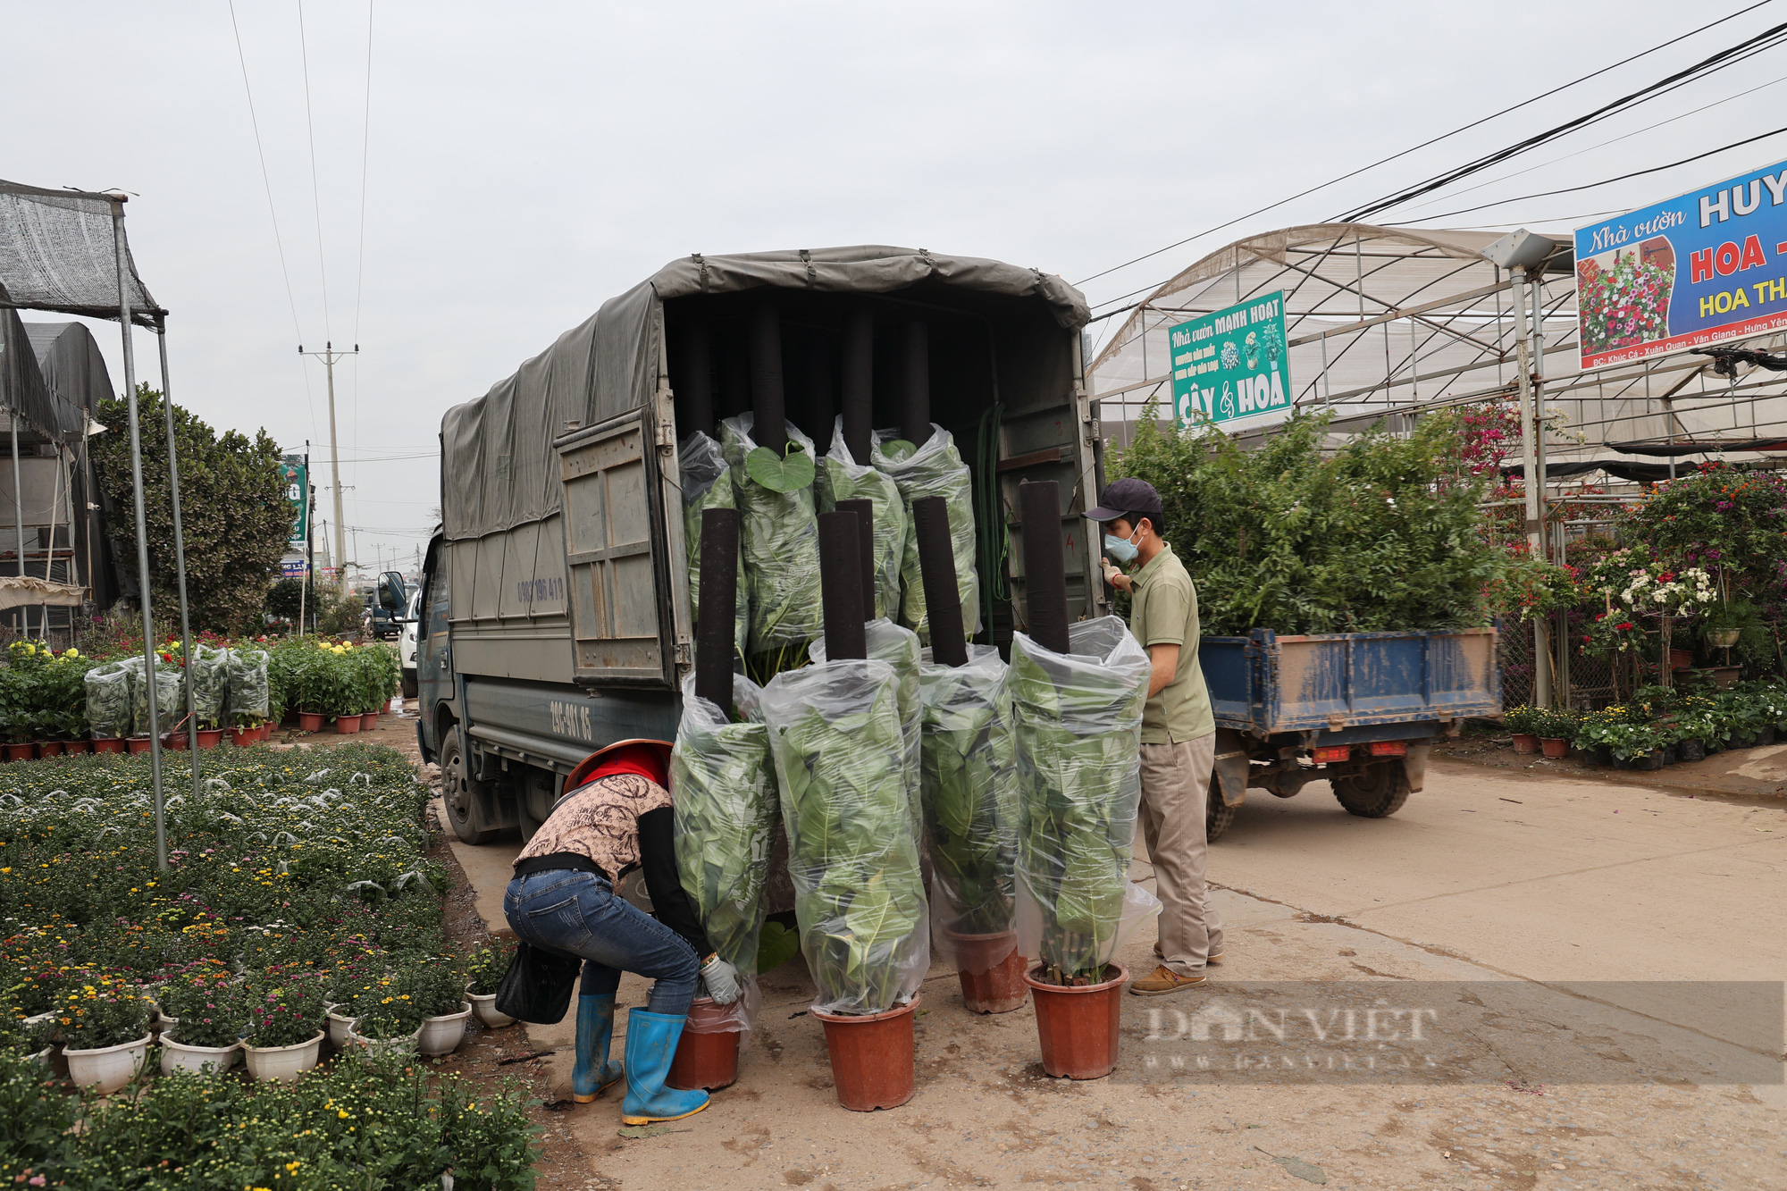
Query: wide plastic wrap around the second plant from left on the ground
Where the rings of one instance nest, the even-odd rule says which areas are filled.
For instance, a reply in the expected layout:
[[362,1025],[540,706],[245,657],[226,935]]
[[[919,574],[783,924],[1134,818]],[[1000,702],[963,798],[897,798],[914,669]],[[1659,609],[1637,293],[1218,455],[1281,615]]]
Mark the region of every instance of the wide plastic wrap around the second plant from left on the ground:
[[813,1009],[904,1005],[931,966],[899,690],[886,662],[784,671],[763,690]]

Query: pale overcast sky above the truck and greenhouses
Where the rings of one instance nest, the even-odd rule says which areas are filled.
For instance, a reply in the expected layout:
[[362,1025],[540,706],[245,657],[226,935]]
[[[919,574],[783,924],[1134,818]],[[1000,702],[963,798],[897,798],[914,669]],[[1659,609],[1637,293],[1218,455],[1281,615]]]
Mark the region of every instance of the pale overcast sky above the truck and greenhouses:
[[[289,451],[309,438],[320,488],[323,374],[297,345],[357,340],[336,370],[347,524],[365,563],[407,563],[440,503],[441,413],[672,258],[888,243],[1078,281],[1742,7],[375,0],[363,141],[366,0],[309,0],[302,41],[295,2],[238,0],[275,240],[225,0],[7,4],[0,177],[139,195],[127,227],[172,311],[175,401],[214,427],[264,426]],[[1086,293],[1113,299],[1244,234],[1331,218],[1780,21],[1787,4],[1767,4]],[[1787,52],[1764,54],[1426,211],[1769,131],[1783,75]],[[1435,225],[1567,229],[1782,157],[1787,136]],[[116,325],[95,333],[122,386]],[[139,343],[154,381],[152,338]],[[331,519],[327,490],[320,504]]]

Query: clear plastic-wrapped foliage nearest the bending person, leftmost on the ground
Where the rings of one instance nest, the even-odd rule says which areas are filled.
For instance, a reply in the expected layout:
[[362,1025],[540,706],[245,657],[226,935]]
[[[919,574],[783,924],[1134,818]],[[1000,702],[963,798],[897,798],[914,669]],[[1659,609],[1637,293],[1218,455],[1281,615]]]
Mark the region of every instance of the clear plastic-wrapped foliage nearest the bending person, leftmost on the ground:
[[[683,721],[670,749],[670,801],[675,805],[675,860],[683,891],[708,932],[708,946],[743,978],[758,971],[763,885],[776,842],[776,767],[763,726],[761,692],[733,676],[740,719],[695,697],[695,676],[683,680]],[[754,998],[722,1005],[734,1030],[749,1030]],[[708,1014],[709,1018],[713,1014]],[[711,1030],[709,1030],[711,1032]]]

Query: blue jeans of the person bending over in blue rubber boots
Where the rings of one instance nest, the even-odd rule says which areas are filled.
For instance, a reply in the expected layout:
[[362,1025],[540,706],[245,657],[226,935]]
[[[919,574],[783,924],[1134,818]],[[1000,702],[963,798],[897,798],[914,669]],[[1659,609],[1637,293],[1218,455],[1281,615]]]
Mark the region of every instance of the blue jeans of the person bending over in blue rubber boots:
[[583,960],[583,994],[620,987],[622,971],[650,976],[647,1010],[681,1018],[695,1000],[701,959],[688,941],[617,898],[595,873],[549,869],[509,882],[502,914],[522,942]]

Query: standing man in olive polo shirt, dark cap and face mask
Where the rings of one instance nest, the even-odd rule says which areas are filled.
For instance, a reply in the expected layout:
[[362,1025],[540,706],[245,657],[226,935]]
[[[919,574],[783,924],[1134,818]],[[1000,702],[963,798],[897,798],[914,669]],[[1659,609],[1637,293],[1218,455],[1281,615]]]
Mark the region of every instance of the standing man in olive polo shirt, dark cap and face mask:
[[[1204,967],[1222,959],[1222,919],[1204,887],[1204,798],[1217,724],[1197,663],[1197,588],[1162,538],[1160,495],[1147,481],[1112,483],[1086,517],[1104,528],[1106,579],[1131,592],[1129,631],[1153,662],[1142,710],[1140,819],[1162,907],[1160,964],[1129,991],[1160,996],[1196,989]],[[1124,574],[1113,560],[1137,569]]]

